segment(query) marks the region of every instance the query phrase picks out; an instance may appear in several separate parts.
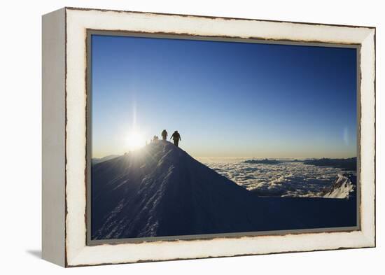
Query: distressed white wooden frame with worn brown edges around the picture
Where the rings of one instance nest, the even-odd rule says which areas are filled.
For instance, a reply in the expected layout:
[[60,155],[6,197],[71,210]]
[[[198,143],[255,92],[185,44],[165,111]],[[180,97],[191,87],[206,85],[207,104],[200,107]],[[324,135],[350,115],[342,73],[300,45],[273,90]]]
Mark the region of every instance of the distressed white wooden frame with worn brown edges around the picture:
[[[86,245],[87,29],[360,45],[360,230]],[[43,258],[74,267],[375,246],[375,29],[62,8],[43,16]]]

